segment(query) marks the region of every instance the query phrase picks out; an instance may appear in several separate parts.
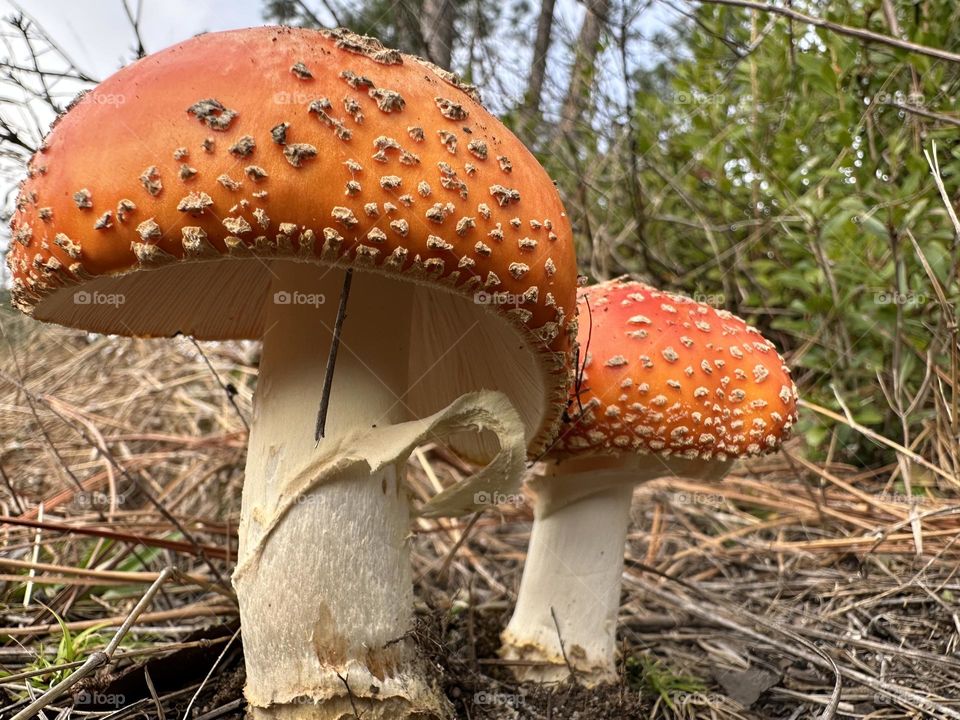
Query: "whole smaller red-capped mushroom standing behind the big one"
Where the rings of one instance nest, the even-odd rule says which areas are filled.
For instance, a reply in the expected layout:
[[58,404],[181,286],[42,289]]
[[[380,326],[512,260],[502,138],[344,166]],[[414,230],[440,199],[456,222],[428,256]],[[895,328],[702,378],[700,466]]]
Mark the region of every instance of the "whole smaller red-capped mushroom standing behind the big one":
[[[623,549],[634,486],[720,479],[776,450],[796,387],[773,344],[725,310],[628,280],[580,297],[583,373],[546,470],[501,654],[552,682],[615,679]],[[562,645],[561,645],[562,643]]]

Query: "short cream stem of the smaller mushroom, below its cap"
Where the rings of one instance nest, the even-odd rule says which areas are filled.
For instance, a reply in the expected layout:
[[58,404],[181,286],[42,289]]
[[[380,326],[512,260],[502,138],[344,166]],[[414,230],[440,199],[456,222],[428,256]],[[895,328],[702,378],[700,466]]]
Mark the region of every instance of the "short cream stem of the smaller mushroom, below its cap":
[[[545,483],[537,489],[536,520],[501,655],[542,664],[517,666],[519,680],[559,682],[569,677],[569,668],[588,686],[616,679],[623,548],[633,495],[626,475],[621,483],[569,503],[556,497],[563,487]],[[553,504],[561,507],[544,514]]]

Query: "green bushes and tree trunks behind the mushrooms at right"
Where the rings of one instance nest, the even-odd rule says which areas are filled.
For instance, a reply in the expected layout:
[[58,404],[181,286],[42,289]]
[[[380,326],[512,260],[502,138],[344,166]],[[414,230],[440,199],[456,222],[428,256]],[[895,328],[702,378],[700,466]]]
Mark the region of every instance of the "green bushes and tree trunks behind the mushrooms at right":
[[[483,80],[515,59],[490,45],[491,28],[513,27],[529,46],[543,8],[452,5],[451,64],[492,87],[494,106],[557,181],[592,280],[632,273],[744,315],[784,348],[807,399],[837,412],[844,403],[857,423],[957,469],[957,238],[924,157],[936,143],[955,202],[957,64],[755,9],[594,0],[597,45],[581,44],[586,21],[579,33],[558,28],[531,112],[532,72],[519,90]],[[300,7],[267,10],[311,24]],[[960,7],[949,0],[790,7],[957,47]],[[342,10],[355,27],[428,54],[423,34],[404,30],[422,12],[383,0]],[[805,413],[803,434],[822,455],[892,459],[836,428]]]

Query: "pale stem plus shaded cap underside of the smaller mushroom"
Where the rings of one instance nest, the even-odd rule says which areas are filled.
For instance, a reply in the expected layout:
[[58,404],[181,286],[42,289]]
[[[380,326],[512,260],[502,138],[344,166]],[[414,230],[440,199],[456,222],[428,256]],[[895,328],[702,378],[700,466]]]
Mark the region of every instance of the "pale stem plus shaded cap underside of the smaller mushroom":
[[[730,463],[597,456],[546,465],[517,605],[500,655],[521,681],[617,679],[616,630],[633,488],[668,476],[722,477]],[[532,663],[532,664],[527,664]]]

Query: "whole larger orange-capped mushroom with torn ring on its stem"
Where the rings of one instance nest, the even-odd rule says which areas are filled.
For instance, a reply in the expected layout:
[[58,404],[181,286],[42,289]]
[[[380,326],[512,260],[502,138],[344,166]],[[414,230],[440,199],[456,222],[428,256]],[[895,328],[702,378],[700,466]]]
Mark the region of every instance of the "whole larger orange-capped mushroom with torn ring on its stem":
[[263,339],[234,573],[253,715],[445,716],[411,640],[404,461],[451,433],[493,458],[431,514],[515,487],[556,434],[576,336],[569,224],[523,145],[370,38],[207,34],[61,117],[12,227],[13,300],[38,320]]

